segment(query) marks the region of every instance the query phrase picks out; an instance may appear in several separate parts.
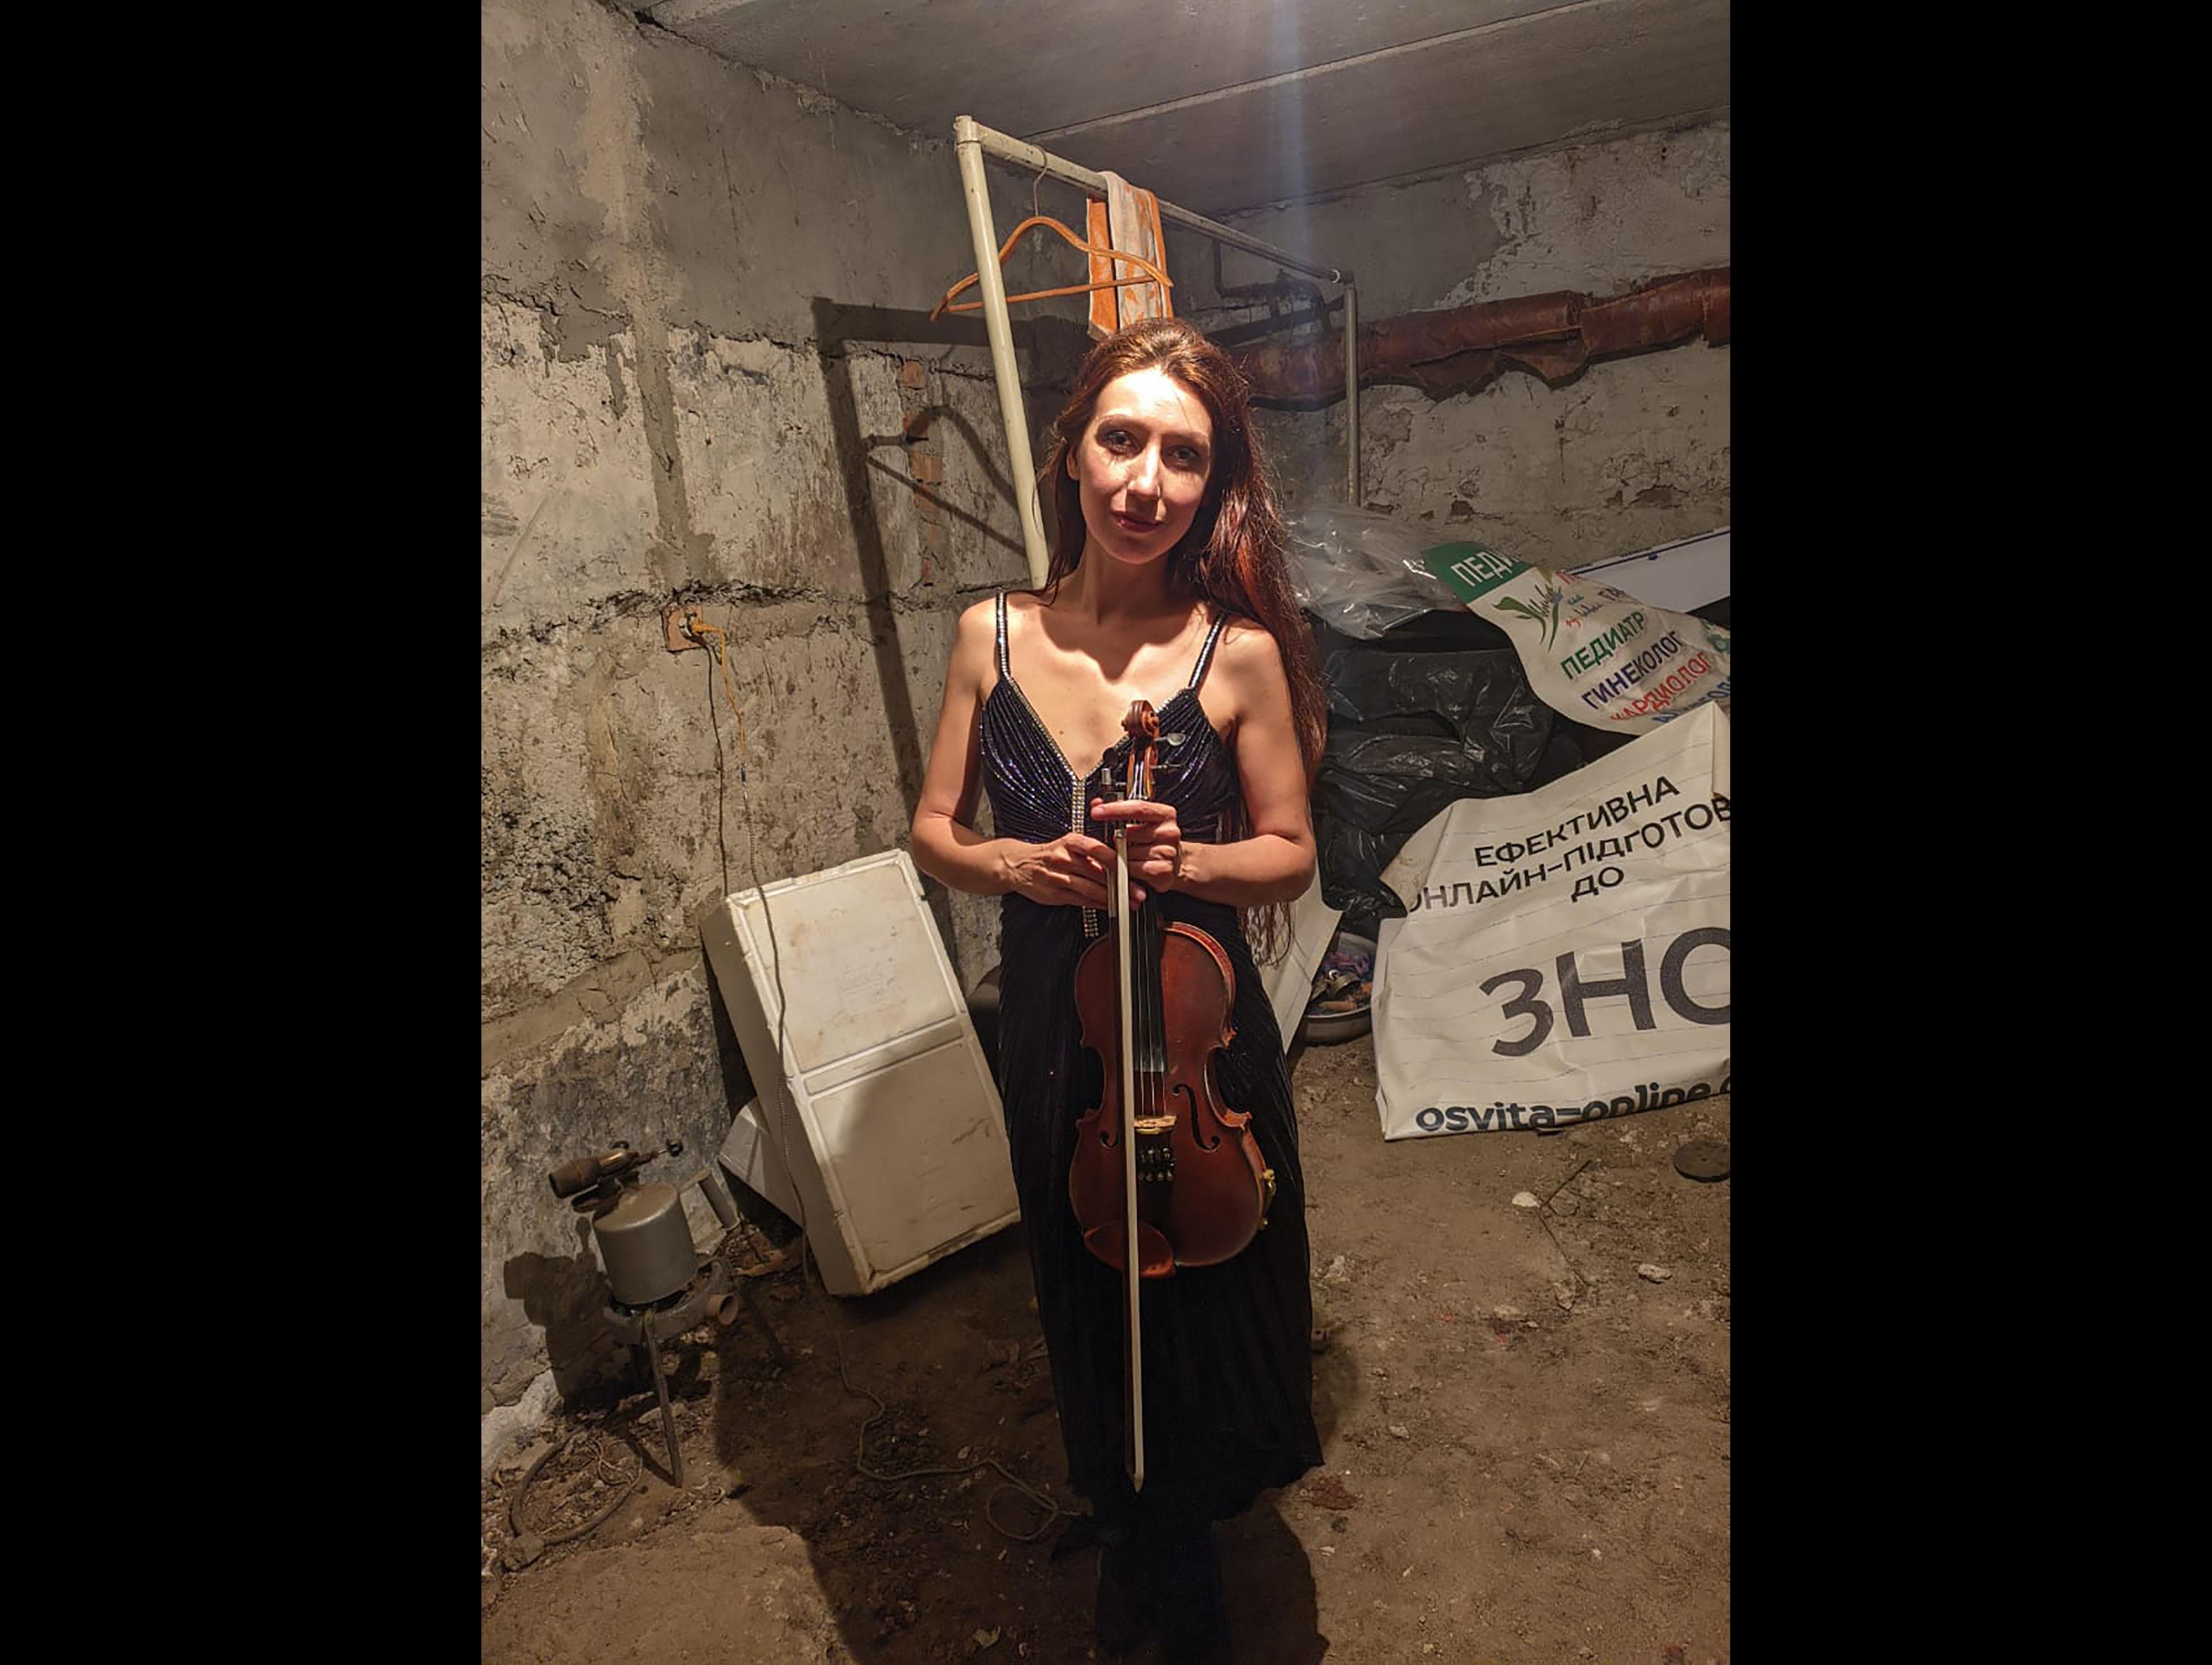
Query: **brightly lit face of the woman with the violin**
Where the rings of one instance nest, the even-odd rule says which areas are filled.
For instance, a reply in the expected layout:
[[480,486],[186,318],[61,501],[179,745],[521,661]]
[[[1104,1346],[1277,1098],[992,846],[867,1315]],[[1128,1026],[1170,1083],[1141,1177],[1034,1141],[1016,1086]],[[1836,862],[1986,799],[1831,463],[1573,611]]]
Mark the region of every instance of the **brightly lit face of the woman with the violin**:
[[1084,553],[1144,566],[1190,531],[1212,469],[1214,422],[1164,369],[1133,369],[1099,391],[1068,475],[1091,533]]

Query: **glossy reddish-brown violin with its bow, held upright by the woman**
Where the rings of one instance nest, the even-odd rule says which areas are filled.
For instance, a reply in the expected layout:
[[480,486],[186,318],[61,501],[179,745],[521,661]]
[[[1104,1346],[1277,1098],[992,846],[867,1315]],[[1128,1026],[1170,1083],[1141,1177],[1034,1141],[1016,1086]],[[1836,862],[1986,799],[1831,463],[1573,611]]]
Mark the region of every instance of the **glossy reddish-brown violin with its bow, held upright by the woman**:
[[[1159,714],[1139,699],[1121,727],[1130,739],[1124,796],[1150,798]],[[1126,827],[1115,827],[1113,847],[1115,926],[1075,964],[1082,1044],[1108,1068],[1097,1108],[1075,1123],[1068,1201],[1084,1247],[1124,1274],[1126,1455],[1130,1484],[1141,1490],[1139,1280],[1239,1254],[1267,1223],[1274,1170],[1252,1137],[1252,1117],[1223,1103],[1214,1072],[1214,1053],[1234,1037],[1237,971],[1217,938],[1164,920],[1157,900],[1133,909]]]

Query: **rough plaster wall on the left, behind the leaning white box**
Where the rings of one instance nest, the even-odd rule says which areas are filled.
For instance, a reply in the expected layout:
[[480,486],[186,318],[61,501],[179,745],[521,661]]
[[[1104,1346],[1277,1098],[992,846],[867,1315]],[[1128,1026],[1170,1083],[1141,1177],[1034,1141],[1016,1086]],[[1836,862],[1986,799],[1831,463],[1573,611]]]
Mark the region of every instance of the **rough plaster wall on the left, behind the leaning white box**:
[[[958,610],[1026,568],[982,327],[927,325],[973,268],[949,144],[591,0],[482,7],[480,117],[489,1413],[611,1362],[546,1170],[681,1139],[672,1183],[750,1092],[699,911],[907,842]],[[1082,332],[1018,343],[1042,422]],[[995,900],[927,889],[973,982]]]

